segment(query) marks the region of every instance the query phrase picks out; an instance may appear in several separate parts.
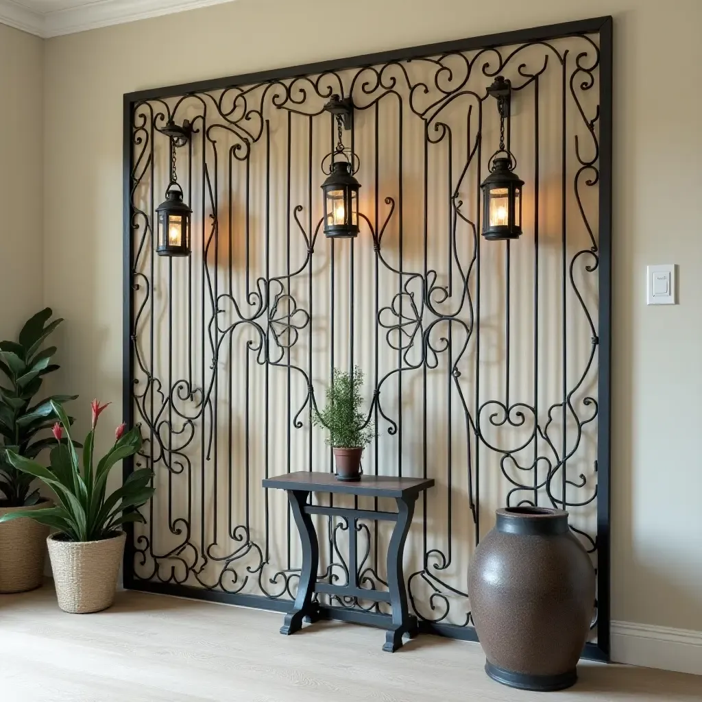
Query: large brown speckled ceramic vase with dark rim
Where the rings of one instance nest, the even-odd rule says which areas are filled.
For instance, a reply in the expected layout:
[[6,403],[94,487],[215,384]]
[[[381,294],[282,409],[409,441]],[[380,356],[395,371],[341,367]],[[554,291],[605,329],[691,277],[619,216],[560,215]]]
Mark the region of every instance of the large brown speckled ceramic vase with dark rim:
[[568,512],[497,510],[468,572],[486,673],[510,687],[570,687],[590,632],[595,570],[568,528]]

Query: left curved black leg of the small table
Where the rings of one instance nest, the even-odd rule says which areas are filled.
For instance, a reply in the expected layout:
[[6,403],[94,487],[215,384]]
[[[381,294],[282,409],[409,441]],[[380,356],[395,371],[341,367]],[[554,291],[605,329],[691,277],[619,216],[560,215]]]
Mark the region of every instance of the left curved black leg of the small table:
[[317,542],[317,532],[314,531],[312,517],[305,513],[305,503],[309,491],[289,490],[288,499],[290,507],[295,517],[295,524],[298,527],[300,541],[303,547],[303,567],[300,572],[300,583],[298,584],[298,594],[295,598],[295,606],[285,616],[285,621],[280,629],[280,633],[285,635],[294,634],[303,625],[303,619],[307,621],[317,621],[319,612],[317,605],[312,602],[314,595],[314,584],[317,582],[317,566],[319,564],[319,543]]

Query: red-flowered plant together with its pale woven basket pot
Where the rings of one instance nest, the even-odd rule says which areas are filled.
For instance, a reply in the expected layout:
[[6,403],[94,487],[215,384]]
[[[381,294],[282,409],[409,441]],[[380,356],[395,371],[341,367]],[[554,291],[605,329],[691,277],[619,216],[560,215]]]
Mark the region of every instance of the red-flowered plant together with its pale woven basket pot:
[[75,450],[66,413],[60,404],[52,402],[52,406],[60,423],[53,427],[57,443],[51,451],[51,468],[44,468],[14,451],[7,453],[17,470],[53,489],[57,504],[43,510],[4,515],[0,522],[30,517],[56,530],[47,542],[58,605],[73,614],[87,614],[107,609],[114,601],[126,538],[119,527],[127,522],[145,521],[138,508],[154,494],[150,486],[154,474],[148,468],[135,470],[121,487],[106,495],[107,476],[114,464],[141,448],[138,428],[125,433],[125,425],[119,425],[114,445],[95,466],[95,427],[107,405],[93,400],[92,428],[86,437],[82,460]]

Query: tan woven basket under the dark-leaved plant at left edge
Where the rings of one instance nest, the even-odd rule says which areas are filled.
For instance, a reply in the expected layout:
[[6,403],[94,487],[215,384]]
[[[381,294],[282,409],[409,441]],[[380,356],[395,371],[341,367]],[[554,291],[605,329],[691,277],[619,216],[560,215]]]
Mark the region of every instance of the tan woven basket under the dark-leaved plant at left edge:
[[[51,507],[48,500],[31,507],[0,507],[0,516],[47,507]],[[29,517],[0,524],[0,592],[27,592],[41,586],[47,535],[48,527]]]

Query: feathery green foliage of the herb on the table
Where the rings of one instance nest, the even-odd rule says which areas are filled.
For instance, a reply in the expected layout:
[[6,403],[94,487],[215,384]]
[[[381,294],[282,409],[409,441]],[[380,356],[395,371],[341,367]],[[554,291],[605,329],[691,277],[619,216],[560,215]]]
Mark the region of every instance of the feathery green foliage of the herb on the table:
[[362,449],[375,432],[362,412],[363,371],[355,366],[352,373],[334,369],[333,382],[326,389],[326,406],[313,411],[312,423],[324,427],[329,435],[326,443],[338,449]]

